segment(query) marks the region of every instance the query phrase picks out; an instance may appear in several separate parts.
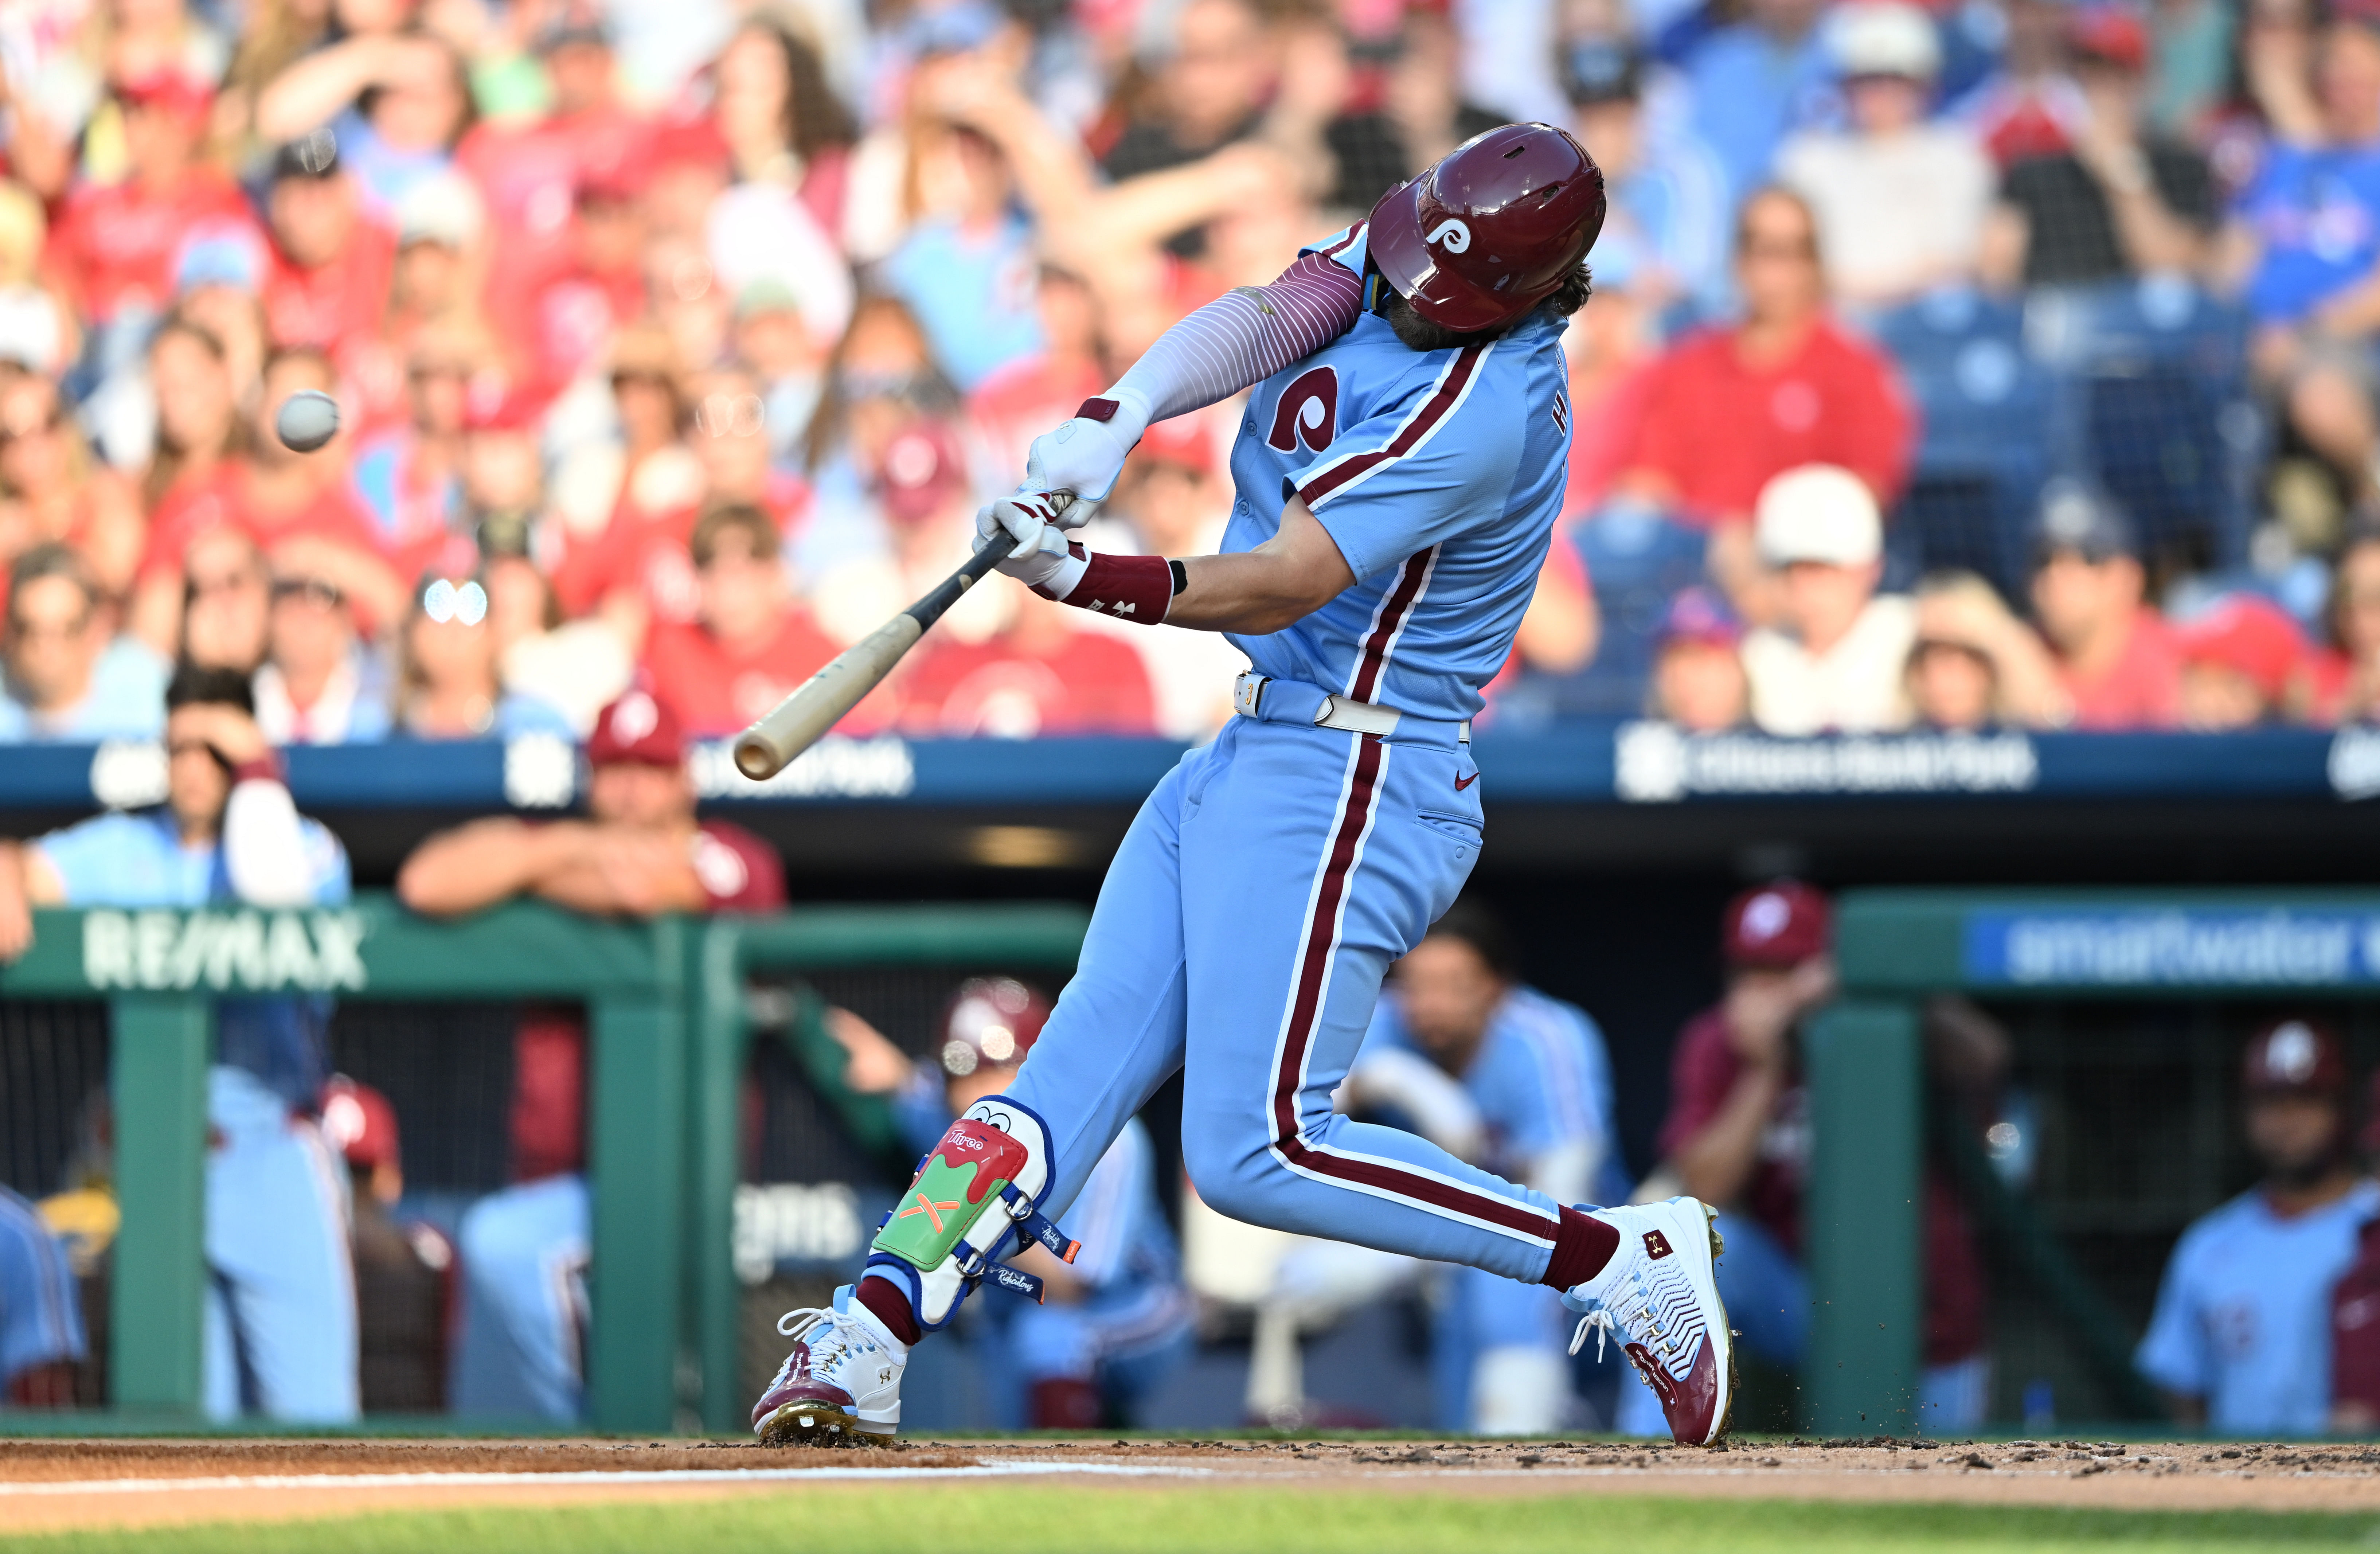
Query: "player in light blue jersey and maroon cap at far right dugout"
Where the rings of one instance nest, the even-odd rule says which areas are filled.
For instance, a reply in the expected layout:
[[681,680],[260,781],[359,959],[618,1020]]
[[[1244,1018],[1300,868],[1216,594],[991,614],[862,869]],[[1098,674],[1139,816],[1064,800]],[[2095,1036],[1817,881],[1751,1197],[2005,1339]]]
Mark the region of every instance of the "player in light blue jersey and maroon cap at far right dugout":
[[2273,1021],[2249,1040],[2242,1083],[2263,1180],[2182,1230],[2135,1364],[2182,1425],[2320,1435],[2330,1290],[2380,1216],[2380,1185],[2354,1168],[2337,1035]]

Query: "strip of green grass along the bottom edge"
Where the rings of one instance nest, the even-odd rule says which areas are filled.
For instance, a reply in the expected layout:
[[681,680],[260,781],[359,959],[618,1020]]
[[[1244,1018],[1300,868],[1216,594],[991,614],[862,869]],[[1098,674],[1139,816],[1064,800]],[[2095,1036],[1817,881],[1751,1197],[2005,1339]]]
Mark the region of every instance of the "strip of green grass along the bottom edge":
[[5,1537],[10,1554],[1768,1554],[1942,1549],[2370,1547],[2375,1516],[2059,1511],[2035,1506],[1894,1506],[1761,1499],[1564,1495],[1364,1495],[1354,1490],[1059,1490],[1038,1485],[802,1487],[785,1495],[602,1504],[559,1511],[371,1514],[305,1523],[221,1523],[124,1533]]

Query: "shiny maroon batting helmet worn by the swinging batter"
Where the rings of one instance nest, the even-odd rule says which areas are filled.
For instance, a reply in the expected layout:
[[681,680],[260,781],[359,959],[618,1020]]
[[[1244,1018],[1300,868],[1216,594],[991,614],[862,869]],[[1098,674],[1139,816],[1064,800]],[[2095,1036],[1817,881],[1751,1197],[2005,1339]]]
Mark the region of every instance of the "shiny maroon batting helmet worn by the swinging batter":
[[1473,333],[1554,295],[1602,228],[1595,157],[1552,124],[1507,124],[1380,195],[1366,243],[1416,314]]

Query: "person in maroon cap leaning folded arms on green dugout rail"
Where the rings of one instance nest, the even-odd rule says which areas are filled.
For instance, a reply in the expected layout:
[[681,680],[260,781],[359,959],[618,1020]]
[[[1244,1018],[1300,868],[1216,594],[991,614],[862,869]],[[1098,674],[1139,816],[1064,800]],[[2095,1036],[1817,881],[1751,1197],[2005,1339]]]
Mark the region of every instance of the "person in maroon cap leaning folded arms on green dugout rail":
[[[785,871],[750,831],[695,819],[685,735],[669,707],[631,690],[588,738],[588,819],[471,821],[421,842],[397,900],[464,916],[533,895],[597,916],[776,911]],[[459,1228],[462,1330],[447,1402],[457,1414],[576,1421],[588,1316],[585,1019],[531,1007],[514,1033],[514,1185]]]

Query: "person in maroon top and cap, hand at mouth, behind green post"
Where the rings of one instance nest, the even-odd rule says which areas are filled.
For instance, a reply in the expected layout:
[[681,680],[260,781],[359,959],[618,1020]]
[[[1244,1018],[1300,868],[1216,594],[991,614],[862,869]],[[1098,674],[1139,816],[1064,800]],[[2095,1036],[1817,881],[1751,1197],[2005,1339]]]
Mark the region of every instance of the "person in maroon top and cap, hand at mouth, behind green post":
[[[1678,1190],[1723,1207],[1721,1297],[1745,1347],[1790,1368],[1802,1364],[1809,1340],[1802,1190],[1811,1128],[1797,1033],[1835,997],[1833,911],[1799,881],[1745,890],[1728,902],[1721,950],[1728,992],[1687,1021],[1671,1057],[1664,1173],[1676,1176]],[[1928,1045],[1937,1073],[1961,1090],[1997,1095],[2006,1038],[1971,1004],[1928,1009]],[[1928,1433],[1971,1430],[1990,1380],[1983,1264],[1966,1211],[1935,1176],[1925,1183],[1923,1221],[1918,1418]],[[1652,1430],[1640,1428],[1647,1406]],[[1618,1423],[1626,1433],[1659,1433],[1652,1392],[1623,1383]]]

